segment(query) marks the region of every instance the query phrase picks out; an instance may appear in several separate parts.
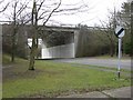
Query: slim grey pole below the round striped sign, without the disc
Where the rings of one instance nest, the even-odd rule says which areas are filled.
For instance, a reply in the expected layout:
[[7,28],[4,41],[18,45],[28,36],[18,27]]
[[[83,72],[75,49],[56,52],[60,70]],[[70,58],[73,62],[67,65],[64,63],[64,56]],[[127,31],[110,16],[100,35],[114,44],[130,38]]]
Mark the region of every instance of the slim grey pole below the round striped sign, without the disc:
[[119,61],[117,61],[117,78],[120,79],[120,71],[121,71],[121,46],[122,46],[122,38],[119,38]]

